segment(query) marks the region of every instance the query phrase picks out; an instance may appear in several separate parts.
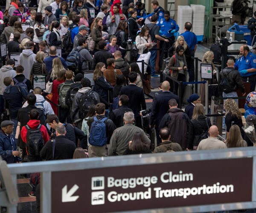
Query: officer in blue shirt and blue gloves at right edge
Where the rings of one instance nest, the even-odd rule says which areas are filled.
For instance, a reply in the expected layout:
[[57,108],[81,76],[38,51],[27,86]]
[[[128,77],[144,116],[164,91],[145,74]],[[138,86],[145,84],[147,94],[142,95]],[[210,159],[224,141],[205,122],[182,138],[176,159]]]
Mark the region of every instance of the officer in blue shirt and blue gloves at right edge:
[[235,63],[235,68],[238,69],[242,80],[250,82],[250,92],[255,89],[255,75],[256,75],[256,56],[250,52],[247,45],[240,46],[241,58]]

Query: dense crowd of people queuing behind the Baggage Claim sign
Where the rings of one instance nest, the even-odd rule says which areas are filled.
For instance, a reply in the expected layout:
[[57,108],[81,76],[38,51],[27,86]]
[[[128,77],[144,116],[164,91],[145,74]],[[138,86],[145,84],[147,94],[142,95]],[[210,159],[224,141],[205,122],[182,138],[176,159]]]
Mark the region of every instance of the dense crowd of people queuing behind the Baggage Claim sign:
[[[160,64],[170,57],[172,78],[186,81],[189,74],[189,81],[195,81],[192,57],[198,42],[192,24],[186,22],[185,32],[175,40],[179,26],[157,0],[151,2],[151,14],[133,0],[40,0],[37,11],[33,8],[37,1],[30,3],[28,9],[12,0],[0,25],[0,39],[8,49],[6,65],[0,68],[0,155],[7,163],[252,146],[233,99],[224,104],[227,142],[217,139],[218,128],[204,115],[202,88],[200,95],[189,97],[184,112],[177,104],[179,85],[163,81],[147,109],[144,94],[150,88],[146,86],[159,77],[157,49],[163,50]],[[151,23],[142,27],[147,18]],[[30,27],[23,31],[22,23]],[[124,60],[130,53],[128,41],[137,49],[130,59],[149,55],[145,72],[140,63]],[[17,52],[19,65],[11,59]],[[228,60],[219,75],[219,81],[228,76],[233,88],[228,92],[224,88],[223,97],[234,97],[237,88],[245,95],[242,80],[256,70],[256,56],[247,46],[241,46],[240,52],[244,58],[236,63]],[[243,64],[247,56],[251,67]],[[212,59],[208,51],[203,62],[211,63],[214,70]],[[85,78],[84,72],[90,69],[91,78]],[[236,69],[243,71],[243,79]],[[35,86],[37,75],[45,75],[45,88]],[[180,89],[183,96],[184,88]],[[143,117],[148,114],[149,132]],[[152,127],[156,147],[154,135],[149,135]],[[35,197],[35,190],[29,196]]]

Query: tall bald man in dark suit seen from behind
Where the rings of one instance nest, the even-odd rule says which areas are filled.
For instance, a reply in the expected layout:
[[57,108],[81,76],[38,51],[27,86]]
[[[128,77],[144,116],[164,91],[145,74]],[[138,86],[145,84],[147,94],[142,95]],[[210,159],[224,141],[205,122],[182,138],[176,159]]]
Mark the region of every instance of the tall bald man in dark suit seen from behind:
[[169,91],[170,83],[169,81],[164,81],[162,84],[163,92],[156,96],[154,100],[154,104],[151,111],[151,122],[150,125],[153,126],[155,122],[155,130],[157,135],[157,144],[160,144],[161,138],[159,136],[159,124],[162,120],[163,116],[169,110],[168,101],[171,99],[175,99],[178,102],[178,96],[174,95],[172,92]]

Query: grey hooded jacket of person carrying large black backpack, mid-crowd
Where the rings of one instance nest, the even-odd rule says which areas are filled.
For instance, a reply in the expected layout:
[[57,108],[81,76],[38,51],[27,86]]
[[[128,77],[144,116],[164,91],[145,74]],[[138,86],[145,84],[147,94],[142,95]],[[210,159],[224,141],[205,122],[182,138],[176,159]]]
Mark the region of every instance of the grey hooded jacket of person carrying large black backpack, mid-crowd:
[[[79,89],[78,92],[76,93],[74,100],[73,100],[72,109],[70,112],[70,117],[71,117],[71,120],[73,121],[73,123],[82,121],[84,119],[84,118],[80,117],[81,113],[79,113],[79,101],[83,94],[85,94],[86,92],[89,92],[91,90],[92,89],[90,87],[83,87],[82,89]],[[96,98],[97,103],[100,103],[98,93],[93,92],[93,95]]]

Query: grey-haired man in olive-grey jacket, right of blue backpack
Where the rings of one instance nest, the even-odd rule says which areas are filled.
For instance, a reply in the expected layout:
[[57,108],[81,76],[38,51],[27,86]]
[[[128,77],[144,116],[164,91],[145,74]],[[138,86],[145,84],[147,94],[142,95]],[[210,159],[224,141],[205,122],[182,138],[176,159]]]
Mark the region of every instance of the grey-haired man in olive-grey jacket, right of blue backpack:
[[110,139],[110,144],[108,148],[108,155],[123,155],[125,150],[129,147],[129,141],[135,132],[142,132],[143,142],[149,147],[150,140],[145,134],[145,132],[134,125],[134,113],[125,112],[124,114],[124,126],[114,130],[113,135]]

